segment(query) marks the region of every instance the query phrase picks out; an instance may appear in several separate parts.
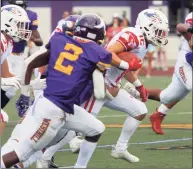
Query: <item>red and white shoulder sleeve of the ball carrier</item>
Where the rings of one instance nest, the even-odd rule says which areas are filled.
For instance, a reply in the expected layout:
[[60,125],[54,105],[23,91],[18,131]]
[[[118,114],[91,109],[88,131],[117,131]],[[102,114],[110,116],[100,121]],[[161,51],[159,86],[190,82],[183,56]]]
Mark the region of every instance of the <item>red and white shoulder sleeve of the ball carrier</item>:
[[126,51],[130,51],[132,49],[135,49],[139,46],[139,40],[137,36],[133,32],[123,32],[118,40],[124,47]]

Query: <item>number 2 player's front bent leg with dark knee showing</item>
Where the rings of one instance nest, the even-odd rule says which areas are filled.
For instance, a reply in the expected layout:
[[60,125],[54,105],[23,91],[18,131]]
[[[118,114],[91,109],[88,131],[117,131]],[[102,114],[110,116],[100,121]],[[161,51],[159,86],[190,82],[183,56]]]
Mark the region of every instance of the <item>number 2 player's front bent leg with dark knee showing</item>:
[[75,168],[85,168],[92,157],[97,142],[105,130],[104,124],[85,109],[74,106],[74,115],[69,115],[64,127],[83,133],[85,139],[80,147]]

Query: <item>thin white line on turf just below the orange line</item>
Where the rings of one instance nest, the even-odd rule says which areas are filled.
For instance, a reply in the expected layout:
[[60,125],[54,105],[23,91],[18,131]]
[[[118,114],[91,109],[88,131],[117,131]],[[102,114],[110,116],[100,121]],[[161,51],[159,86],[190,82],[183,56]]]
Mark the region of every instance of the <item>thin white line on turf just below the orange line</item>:
[[[159,143],[169,143],[169,142],[180,142],[180,141],[188,141],[193,140],[193,138],[181,138],[181,139],[170,139],[170,140],[158,140],[158,141],[148,141],[148,142],[136,142],[136,143],[129,143],[131,145],[147,145],[147,144],[159,144]],[[97,146],[97,148],[106,148],[106,147],[113,147],[114,144],[109,145],[101,145]],[[66,152],[71,151],[71,149],[60,149],[57,152]]]

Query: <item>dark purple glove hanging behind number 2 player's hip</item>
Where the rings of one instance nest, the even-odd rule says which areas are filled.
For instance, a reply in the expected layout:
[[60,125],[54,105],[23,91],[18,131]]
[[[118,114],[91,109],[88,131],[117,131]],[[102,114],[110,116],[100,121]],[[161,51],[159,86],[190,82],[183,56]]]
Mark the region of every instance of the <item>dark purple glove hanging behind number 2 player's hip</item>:
[[19,117],[23,117],[23,115],[26,113],[27,109],[29,108],[29,104],[30,104],[30,97],[21,94],[18,101],[16,102],[16,108],[17,108]]

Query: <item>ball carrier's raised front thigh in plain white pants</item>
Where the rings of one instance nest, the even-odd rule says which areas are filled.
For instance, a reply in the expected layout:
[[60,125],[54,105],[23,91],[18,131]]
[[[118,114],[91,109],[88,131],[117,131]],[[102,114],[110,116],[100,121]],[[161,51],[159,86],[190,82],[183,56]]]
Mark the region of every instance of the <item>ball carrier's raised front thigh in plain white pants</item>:
[[112,101],[105,102],[105,106],[113,110],[125,112],[131,117],[147,113],[146,105],[123,89],[120,89],[118,95]]

